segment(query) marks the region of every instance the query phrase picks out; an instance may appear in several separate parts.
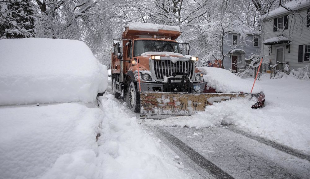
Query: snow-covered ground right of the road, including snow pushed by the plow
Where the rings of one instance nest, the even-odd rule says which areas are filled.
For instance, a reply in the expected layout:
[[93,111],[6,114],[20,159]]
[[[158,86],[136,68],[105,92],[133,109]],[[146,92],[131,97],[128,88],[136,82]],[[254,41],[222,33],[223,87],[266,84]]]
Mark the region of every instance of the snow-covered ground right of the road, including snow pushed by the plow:
[[[254,79],[246,79],[251,82]],[[308,80],[292,77],[270,79],[265,75],[256,81],[265,93],[265,106],[251,109],[251,101],[235,99],[208,106],[206,111],[190,117],[164,120],[146,119],[146,125],[216,127],[237,125],[261,137],[274,140],[310,154],[310,110]]]

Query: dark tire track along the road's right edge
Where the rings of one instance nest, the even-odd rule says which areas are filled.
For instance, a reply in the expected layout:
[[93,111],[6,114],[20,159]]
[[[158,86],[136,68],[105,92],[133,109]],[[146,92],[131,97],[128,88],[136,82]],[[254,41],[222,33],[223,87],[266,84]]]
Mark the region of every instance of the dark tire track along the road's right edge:
[[260,143],[263,143],[265,145],[271,146],[271,147],[273,147],[273,148],[275,148],[275,149],[277,149],[279,151],[285,152],[287,154],[290,154],[292,156],[298,157],[300,159],[308,160],[310,162],[310,156],[309,155],[303,154],[301,152],[298,152],[298,151],[296,151],[294,149],[291,149],[290,147],[286,147],[286,146],[283,146],[283,145],[281,145],[279,143],[276,143],[276,142],[273,142],[271,140],[265,139],[263,137],[259,137],[259,136],[247,133],[247,132],[245,132],[243,130],[240,130],[240,129],[237,129],[236,127],[233,127],[233,126],[230,126],[227,129],[232,131],[232,132],[241,134],[241,135],[243,135],[243,136],[245,136],[247,138],[256,140],[256,141],[258,141]]

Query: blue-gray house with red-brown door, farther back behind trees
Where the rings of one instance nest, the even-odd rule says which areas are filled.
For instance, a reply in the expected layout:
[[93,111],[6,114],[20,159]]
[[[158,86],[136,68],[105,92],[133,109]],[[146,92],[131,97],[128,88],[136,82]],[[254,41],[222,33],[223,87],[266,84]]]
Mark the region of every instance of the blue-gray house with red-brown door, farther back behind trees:
[[251,54],[260,53],[260,34],[248,33],[245,38],[232,32],[224,39],[223,52],[228,55],[224,58],[224,67],[235,72],[242,72],[246,68],[246,58]]

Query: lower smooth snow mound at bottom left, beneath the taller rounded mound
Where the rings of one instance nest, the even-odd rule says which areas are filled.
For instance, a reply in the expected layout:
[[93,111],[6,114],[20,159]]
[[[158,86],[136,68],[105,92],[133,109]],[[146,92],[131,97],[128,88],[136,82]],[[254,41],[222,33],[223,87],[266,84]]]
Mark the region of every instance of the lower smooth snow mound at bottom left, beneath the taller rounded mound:
[[0,178],[95,178],[103,117],[74,103],[0,108]]

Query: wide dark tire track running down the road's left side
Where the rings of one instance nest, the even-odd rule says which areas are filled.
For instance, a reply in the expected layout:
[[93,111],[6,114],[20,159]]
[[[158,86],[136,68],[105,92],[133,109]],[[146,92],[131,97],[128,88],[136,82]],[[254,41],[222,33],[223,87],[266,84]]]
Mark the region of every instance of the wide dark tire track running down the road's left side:
[[168,139],[171,143],[173,143],[176,147],[178,147],[184,154],[188,156],[191,160],[193,160],[197,165],[201,168],[206,170],[207,172],[211,173],[217,178],[224,178],[224,179],[233,179],[228,173],[220,169],[218,166],[207,160],[205,157],[200,155],[197,151],[193,148],[186,145],[184,142],[176,138],[174,135],[170,134],[167,130],[163,128],[157,128],[163,136]]

